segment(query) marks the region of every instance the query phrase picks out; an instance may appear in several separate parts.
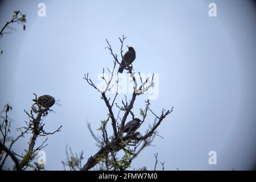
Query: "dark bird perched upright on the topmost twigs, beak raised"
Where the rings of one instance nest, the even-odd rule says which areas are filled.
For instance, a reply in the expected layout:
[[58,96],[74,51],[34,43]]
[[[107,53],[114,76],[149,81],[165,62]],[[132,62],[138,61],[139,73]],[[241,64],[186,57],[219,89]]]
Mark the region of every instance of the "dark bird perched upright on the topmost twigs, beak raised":
[[133,47],[128,47],[128,51],[125,53],[125,55],[123,55],[123,59],[121,61],[121,65],[118,69],[118,72],[119,73],[122,73],[123,72],[123,69],[128,67],[131,63],[133,63],[133,61],[135,60],[136,58],[136,52],[134,50]]

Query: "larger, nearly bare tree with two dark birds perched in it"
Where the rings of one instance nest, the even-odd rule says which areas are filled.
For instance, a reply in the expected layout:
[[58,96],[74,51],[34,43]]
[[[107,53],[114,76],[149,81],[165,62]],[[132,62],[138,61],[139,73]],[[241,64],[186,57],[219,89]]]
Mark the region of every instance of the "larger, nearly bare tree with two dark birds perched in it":
[[[122,38],[119,38],[119,41],[121,43],[120,48],[120,54],[121,59],[123,57],[123,42],[126,39],[125,36],[122,36]],[[98,129],[101,131],[101,137],[97,138],[96,135],[93,133],[90,125],[88,124],[88,128],[90,133],[92,134],[92,137],[96,140],[98,143],[98,146],[100,147],[100,150],[96,152],[93,156],[90,156],[90,158],[87,160],[87,162],[84,164],[84,166],[81,168],[81,170],[89,170],[96,166],[96,164],[104,164],[106,170],[125,170],[130,167],[131,162],[133,162],[133,159],[135,159],[143,150],[144,147],[150,145],[152,141],[154,140],[155,136],[159,136],[158,134],[158,127],[162,123],[163,119],[167,117],[168,114],[170,114],[173,111],[173,107],[171,110],[162,109],[160,115],[156,115],[154,111],[150,109],[150,100],[145,101],[144,109],[140,109],[140,114],[142,116],[142,124],[145,122],[145,119],[148,115],[148,113],[151,113],[155,117],[155,122],[153,123],[152,127],[150,127],[144,135],[139,133],[138,131],[135,131],[134,133],[123,135],[124,133],[124,126],[127,120],[127,117],[129,114],[134,119],[135,115],[133,112],[133,107],[135,104],[135,100],[138,96],[141,96],[144,94],[148,89],[154,86],[154,75],[152,75],[151,78],[146,78],[146,80],[143,80],[141,77],[141,73],[136,73],[133,70],[133,66],[129,66],[125,68],[127,71],[127,74],[131,77],[133,81],[133,93],[131,94],[131,99],[128,101],[127,96],[122,99],[121,105],[118,105],[116,101],[118,97],[118,73],[117,76],[114,76],[115,74],[115,68],[117,68],[117,65],[119,67],[120,60],[118,60],[117,54],[113,52],[112,47],[110,46],[110,43],[106,39],[106,43],[108,46],[106,49],[110,51],[110,55],[113,57],[113,69],[107,69],[108,73],[110,74],[110,79],[105,78],[105,69],[102,71],[102,81],[105,82],[105,89],[101,90],[98,88],[94,82],[89,78],[89,74],[86,73],[84,76],[85,81],[92,86],[94,89],[97,90],[97,92],[100,93],[101,99],[104,101],[106,107],[108,108],[108,117],[105,120],[101,121],[101,127]],[[135,78],[135,74],[138,74],[139,79]],[[115,81],[117,84],[117,89],[115,89],[115,94],[113,95],[113,98],[107,97],[106,93],[112,91],[113,84],[112,81]],[[116,113],[114,113],[113,109],[114,107],[117,107],[119,110]],[[122,117],[121,117],[122,115]],[[106,127],[108,123],[111,123],[113,134],[110,134],[107,132]],[[141,125],[139,126],[141,127]],[[122,151],[122,153],[121,153]],[[122,158],[118,158],[118,152],[120,154],[124,154]],[[163,163],[162,163],[163,166]],[[164,169],[164,167],[163,167]]]

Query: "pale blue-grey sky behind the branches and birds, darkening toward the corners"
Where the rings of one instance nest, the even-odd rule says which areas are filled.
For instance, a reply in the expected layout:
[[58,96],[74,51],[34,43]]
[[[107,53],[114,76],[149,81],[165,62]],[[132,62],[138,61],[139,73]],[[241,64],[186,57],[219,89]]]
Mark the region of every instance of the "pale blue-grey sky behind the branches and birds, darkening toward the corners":
[[[46,17],[38,16],[40,2],[46,4]],[[208,15],[211,2],[217,5],[217,17]],[[123,34],[125,45],[137,53],[135,71],[158,75],[152,109],[160,114],[163,107],[174,106],[159,127],[164,139],[156,138],[154,146],[134,160],[132,169],[154,169],[155,152],[167,170],[254,167],[255,3],[2,1],[0,5],[1,27],[14,10],[27,14],[26,31],[15,26],[17,31],[0,39],[0,106],[13,106],[13,129],[28,119],[23,110],[30,109],[32,93],[60,100],[61,106],[54,105],[55,113],[44,121],[49,131],[63,125],[44,148],[46,169],[63,169],[66,145],[73,152],[84,150],[84,162],[97,152],[86,122],[97,133],[108,111],[100,94],[82,77],[88,72],[100,83],[98,75],[102,68],[111,68],[113,60],[105,39],[119,53],[118,38]],[[149,95],[136,100],[136,117]],[[144,133],[153,122],[154,115],[149,115],[139,131]],[[15,135],[12,131],[11,136]],[[15,150],[27,148],[28,137],[16,143]],[[217,152],[216,165],[209,165],[209,151]]]

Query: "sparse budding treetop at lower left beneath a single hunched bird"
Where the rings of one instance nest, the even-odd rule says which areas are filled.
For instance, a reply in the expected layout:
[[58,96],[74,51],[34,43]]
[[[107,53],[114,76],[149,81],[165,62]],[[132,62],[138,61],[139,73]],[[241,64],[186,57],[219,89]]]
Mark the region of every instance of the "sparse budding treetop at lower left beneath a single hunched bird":
[[[36,94],[34,101],[38,100]],[[48,113],[52,111],[49,107],[43,107],[42,105],[35,102],[31,106],[31,110],[28,112],[24,110],[24,112],[28,116],[28,121],[25,121],[25,126],[16,129],[19,132],[18,137],[15,139],[11,139],[8,142],[8,135],[10,133],[11,127],[11,119],[8,117],[8,112],[11,110],[11,106],[7,104],[5,109],[1,111],[1,122],[0,122],[0,131],[1,131],[1,140],[0,140],[0,170],[5,166],[6,159],[10,156],[13,160],[15,167],[14,170],[25,170],[27,167],[30,167],[34,170],[43,169],[42,164],[38,164],[33,162],[33,159],[38,154],[38,151],[42,150],[42,148],[46,147],[48,135],[53,135],[56,132],[59,132],[60,126],[57,130],[53,132],[47,132],[44,130],[44,122],[43,118],[47,117]],[[4,114],[3,114],[4,113]],[[3,116],[2,116],[3,114]],[[13,145],[22,137],[25,137],[26,134],[31,134],[30,141],[28,142],[28,148],[25,149],[24,154],[17,154],[13,151]],[[38,137],[47,137],[42,144],[36,147],[36,139]]]

